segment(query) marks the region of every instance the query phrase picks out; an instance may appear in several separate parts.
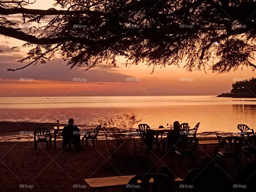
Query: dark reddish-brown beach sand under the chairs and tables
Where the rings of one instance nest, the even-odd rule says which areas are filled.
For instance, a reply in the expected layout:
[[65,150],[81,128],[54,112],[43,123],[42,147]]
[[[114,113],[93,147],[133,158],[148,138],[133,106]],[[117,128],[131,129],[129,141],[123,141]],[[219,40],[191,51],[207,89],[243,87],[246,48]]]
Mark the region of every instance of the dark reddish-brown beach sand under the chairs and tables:
[[[8,137],[8,135],[16,135],[19,131],[32,131],[35,127],[48,126],[51,123],[35,123],[28,122],[0,122],[0,135]],[[34,127],[33,127],[34,126]],[[33,127],[33,128],[32,128]],[[52,130],[53,128],[51,128]],[[91,191],[87,186],[83,188],[73,188],[73,185],[86,185],[84,179],[98,177],[112,177],[124,175],[136,175],[141,173],[155,173],[157,167],[166,165],[173,170],[179,178],[185,178],[186,173],[199,166],[201,158],[204,155],[212,155],[214,146],[208,146],[206,151],[201,147],[197,150],[197,166],[192,166],[190,159],[183,159],[182,167],[171,165],[169,154],[162,153],[162,143],[160,143],[161,152],[157,152],[156,146],[153,146],[153,153],[146,153],[146,147],[143,146],[142,153],[140,151],[141,143],[136,139],[136,155],[149,161],[140,166],[136,162],[124,163],[118,159],[110,157],[110,151],[107,147],[105,139],[98,141],[98,147],[93,147],[91,142],[89,146],[84,146],[80,151],[62,150],[61,132],[58,135],[57,148],[46,149],[45,143],[39,143],[38,149],[34,149],[33,136],[28,138],[20,138],[17,136],[9,136],[10,141],[0,142],[0,191],[29,191],[29,188],[20,188],[20,185],[33,185],[34,191]],[[53,136],[53,134],[52,134]],[[21,135],[20,137],[23,137]],[[27,139],[27,141],[26,141]],[[200,138],[216,139],[216,138]],[[25,141],[24,141],[25,140]],[[130,154],[134,154],[133,142],[131,143]],[[229,162],[229,161],[227,161]],[[231,160],[234,165],[234,161]],[[245,158],[241,158],[241,167],[227,167],[227,178],[235,179],[239,169],[245,166]],[[112,188],[107,191],[123,191],[124,187]]]

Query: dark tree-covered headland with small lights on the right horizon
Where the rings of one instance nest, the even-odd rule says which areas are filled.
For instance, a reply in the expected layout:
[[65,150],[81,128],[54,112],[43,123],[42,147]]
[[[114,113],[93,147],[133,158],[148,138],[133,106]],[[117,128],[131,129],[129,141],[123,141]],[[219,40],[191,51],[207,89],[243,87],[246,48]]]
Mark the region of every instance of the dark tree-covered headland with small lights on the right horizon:
[[230,93],[222,93],[217,97],[256,98],[256,78],[236,81],[232,84]]

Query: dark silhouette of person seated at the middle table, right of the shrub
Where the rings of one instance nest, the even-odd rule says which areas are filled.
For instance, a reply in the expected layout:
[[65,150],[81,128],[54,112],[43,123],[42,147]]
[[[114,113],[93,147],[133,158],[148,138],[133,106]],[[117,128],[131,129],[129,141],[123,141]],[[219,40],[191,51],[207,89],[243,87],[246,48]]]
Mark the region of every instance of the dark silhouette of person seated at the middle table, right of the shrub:
[[176,145],[180,138],[185,137],[181,134],[181,126],[178,121],[174,121],[173,130],[167,135],[167,150],[174,150],[173,145]]

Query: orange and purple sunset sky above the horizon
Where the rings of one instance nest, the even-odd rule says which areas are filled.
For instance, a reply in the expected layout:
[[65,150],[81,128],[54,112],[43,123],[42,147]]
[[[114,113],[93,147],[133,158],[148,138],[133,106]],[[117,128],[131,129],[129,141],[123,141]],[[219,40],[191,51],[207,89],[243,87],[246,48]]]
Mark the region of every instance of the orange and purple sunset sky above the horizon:
[[[37,1],[26,8],[53,7],[53,1],[44,0],[43,2]],[[9,19],[15,22],[21,21],[19,15],[11,15]],[[23,30],[26,31],[29,27],[29,25],[23,26]],[[75,67],[69,70],[66,62],[60,62],[58,59],[44,65],[38,63],[19,71],[6,71],[6,68],[26,65],[17,61],[25,57],[28,49],[21,49],[19,52],[12,50],[11,47],[21,46],[25,42],[5,38],[3,35],[0,36],[0,42],[0,49],[5,52],[0,55],[0,88],[2,90],[0,97],[218,95],[228,92],[234,80],[255,76],[255,72],[246,67],[243,70],[225,74],[212,73],[209,70],[206,71],[207,73],[203,70],[190,73],[183,68],[185,63],[181,63],[179,68],[156,67],[154,73],[150,74],[153,67],[148,67],[144,63],[125,67],[123,57],[117,58],[116,67],[99,64],[89,71],[85,71],[86,67]],[[25,81],[20,81],[20,78]],[[73,81],[74,78],[78,81]],[[127,81],[127,78],[134,78],[133,80],[137,81]]]

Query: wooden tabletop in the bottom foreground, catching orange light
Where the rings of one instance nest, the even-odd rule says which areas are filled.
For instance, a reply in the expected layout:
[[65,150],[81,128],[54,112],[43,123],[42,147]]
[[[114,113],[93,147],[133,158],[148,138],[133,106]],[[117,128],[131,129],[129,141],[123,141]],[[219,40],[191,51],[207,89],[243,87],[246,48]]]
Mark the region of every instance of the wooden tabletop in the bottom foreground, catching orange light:
[[[101,177],[101,178],[91,178],[85,179],[85,182],[92,188],[93,191],[111,188],[111,187],[118,187],[118,186],[125,186],[133,178],[135,175],[129,176],[119,176],[119,177]],[[171,182],[179,182],[183,181],[183,179],[175,178]]]

